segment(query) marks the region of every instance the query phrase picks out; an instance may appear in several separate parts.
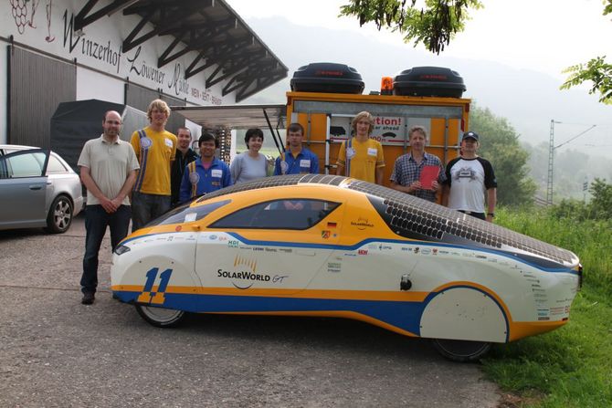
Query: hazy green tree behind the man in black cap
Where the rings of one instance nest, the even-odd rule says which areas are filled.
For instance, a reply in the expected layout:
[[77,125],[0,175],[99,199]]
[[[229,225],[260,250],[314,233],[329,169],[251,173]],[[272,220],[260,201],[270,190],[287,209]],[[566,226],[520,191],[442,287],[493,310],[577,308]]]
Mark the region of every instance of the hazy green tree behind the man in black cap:
[[528,176],[529,152],[522,148],[508,120],[472,105],[470,131],[480,135],[479,155],[489,160],[497,177],[499,204],[531,204],[536,185]]

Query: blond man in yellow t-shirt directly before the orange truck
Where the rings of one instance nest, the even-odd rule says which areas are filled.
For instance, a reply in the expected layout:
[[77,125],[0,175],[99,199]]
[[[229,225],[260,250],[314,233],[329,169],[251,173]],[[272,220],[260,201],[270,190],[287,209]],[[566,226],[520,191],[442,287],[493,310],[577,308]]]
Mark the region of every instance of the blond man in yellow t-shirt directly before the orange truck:
[[351,122],[354,137],[343,141],[338,152],[337,175],[346,175],[365,182],[383,184],[385,156],[383,146],[370,133],[374,117],[370,112],[359,112]]

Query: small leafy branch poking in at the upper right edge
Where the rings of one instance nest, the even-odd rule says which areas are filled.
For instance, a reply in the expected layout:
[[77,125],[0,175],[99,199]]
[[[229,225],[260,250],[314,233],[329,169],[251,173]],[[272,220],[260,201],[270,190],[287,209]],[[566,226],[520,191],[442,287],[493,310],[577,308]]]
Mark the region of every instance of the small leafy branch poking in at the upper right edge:
[[590,81],[592,86],[588,93],[599,93],[600,102],[612,104],[612,65],[607,64],[605,59],[606,56],[592,58],[586,64],[565,68],[563,72],[569,73],[570,76],[565,79],[561,89],[570,89]]

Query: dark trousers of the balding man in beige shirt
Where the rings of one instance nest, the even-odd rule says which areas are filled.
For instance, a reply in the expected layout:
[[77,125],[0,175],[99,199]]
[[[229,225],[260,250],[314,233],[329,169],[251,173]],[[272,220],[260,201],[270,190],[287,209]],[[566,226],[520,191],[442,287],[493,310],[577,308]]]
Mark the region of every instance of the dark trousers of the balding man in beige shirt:
[[83,293],[96,293],[98,288],[98,253],[107,225],[111,227],[112,250],[121,239],[128,235],[132,210],[130,205],[120,205],[117,211],[109,214],[98,205],[88,205],[85,210],[85,256],[83,256],[83,276],[80,277],[80,290]]

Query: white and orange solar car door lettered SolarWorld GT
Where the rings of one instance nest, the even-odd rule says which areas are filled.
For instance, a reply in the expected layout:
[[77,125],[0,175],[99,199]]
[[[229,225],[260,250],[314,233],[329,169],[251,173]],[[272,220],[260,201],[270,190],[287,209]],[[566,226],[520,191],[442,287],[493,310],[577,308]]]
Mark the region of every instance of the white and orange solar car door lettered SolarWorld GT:
[[[209,225],[198,238],[196,273],[205,288],[290,295],[326,267],[337,243],[342,206],[324,200],[272,200]],[[223,232],[220,232],[223,231]]]

